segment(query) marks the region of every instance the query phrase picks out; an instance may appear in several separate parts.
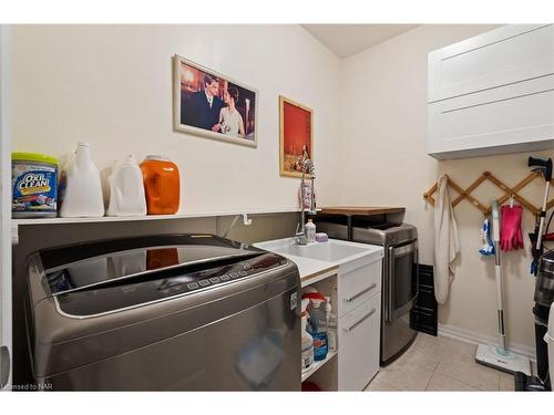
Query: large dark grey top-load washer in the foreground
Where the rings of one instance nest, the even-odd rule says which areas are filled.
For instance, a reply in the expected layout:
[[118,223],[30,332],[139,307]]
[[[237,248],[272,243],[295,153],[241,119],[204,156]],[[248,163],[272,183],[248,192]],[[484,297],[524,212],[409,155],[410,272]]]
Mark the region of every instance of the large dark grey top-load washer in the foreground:
[[300,279],[212,235],[48,249],[28,262],[39,387],[299,391]]

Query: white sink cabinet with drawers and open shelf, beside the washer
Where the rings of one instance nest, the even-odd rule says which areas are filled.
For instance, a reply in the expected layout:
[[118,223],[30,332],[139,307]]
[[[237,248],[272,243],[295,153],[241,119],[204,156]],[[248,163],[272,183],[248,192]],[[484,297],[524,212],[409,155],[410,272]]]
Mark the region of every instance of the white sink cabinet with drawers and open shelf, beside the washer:
[[329,239],[298,246],[293,238],[255,243],[295,261],[302,287],[331,297],[337,352],[302,373],[324,391],[363,391],[379,371],[382,247]]

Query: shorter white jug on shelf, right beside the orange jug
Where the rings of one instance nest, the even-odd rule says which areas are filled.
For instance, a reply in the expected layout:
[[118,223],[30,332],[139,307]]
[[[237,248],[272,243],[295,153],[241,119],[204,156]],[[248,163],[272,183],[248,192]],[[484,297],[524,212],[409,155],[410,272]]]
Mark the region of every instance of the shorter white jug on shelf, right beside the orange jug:
[[115,164],[107,181],[110,184],[107,216],[146,215],[142,172],[132,155]]

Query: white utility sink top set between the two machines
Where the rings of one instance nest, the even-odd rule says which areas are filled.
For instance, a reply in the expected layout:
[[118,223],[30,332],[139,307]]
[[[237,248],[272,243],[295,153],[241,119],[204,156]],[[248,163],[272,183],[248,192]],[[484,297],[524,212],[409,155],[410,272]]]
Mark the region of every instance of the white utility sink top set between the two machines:
[[327,242],[298,245],[294,238],[259,242],[255,243],[255,247],[276,252],[285,257],[294,256],[309,258],[337,264],[366,256],[376,251],[376,249],[379,249],[378,247],[371,245],[347,242],[336,239],[329,239]]

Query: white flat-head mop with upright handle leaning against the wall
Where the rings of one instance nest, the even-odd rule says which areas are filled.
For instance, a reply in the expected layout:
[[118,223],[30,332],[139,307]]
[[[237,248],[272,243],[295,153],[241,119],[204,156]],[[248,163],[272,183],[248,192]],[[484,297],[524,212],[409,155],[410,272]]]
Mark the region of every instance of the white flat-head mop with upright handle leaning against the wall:
[[496,200],[492,201],[492,230],[494,236],[494,276],[496,278],[500,345],[479,344],[478,352],[475,353],[475,362],[512,374],[523,372],[531,375],[530,360],[506,349],[504,308],[502,305],[502,268],[500,266],[500,212]]

